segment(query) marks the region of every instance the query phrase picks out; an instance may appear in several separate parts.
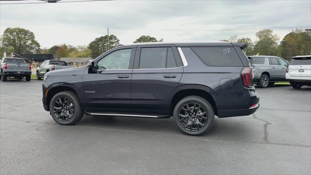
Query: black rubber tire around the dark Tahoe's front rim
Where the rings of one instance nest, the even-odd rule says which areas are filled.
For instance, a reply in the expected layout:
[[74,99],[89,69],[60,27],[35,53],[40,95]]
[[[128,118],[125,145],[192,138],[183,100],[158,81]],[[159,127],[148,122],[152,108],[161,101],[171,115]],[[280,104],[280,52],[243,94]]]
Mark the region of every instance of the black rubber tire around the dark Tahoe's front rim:
[[[63,121],[58,120],[57,117],[55,116],[55,114],[53,113],[53,105],[54,105],[56,99],[59,97],[69,98],[71,103],[74,105],[74,110],[75,110],[74,115],[73,115],[72,119],[67,121],[67,122],[63,122]],[[81,115],[83,115],[83,114],[81,114],[82,113],[81,106],[80,106],[78,99],[76,99],[76,98],[77,97],[74,97],[72,94],[66,93],[66,92],[59,92],[52,97],[51,102],[50,102],[50,113],[51,113],[51,116],[55,122],[62,124],[62,125],[72,125],[81,119],[81,117],[82,117]]]

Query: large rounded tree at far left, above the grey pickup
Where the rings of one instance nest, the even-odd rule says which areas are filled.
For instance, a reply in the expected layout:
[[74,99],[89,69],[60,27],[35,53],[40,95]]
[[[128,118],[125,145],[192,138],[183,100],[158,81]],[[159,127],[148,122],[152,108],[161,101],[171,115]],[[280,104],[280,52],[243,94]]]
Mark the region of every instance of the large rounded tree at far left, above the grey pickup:
[[37,53],[40,44],[33,32],[22,28],[7,28],[0,38],[1,46],[17,53]]

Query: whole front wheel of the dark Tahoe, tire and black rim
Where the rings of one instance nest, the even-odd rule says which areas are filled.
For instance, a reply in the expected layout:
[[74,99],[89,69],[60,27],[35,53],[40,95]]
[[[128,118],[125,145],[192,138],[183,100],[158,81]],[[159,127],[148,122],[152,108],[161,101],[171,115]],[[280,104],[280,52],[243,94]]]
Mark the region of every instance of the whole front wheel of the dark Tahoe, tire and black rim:
[[[61,100],[59,101],[59,99]],[[67,101],[67,104],[66,104],[67,108],[65,108],[65,106],[62,105],[62,104],[65,104],[64,102],[66,101],[66,99],[69,99],[70,101],[70,102]],[[69,108],[69,106],[71,105],[73,105],[73,108],[72,107]],[[56,108],[54,108],[54,106]],[[58,109],[59,107],[64,109],[66,113],[61,111],[62,109],[59,110]],[[73,113],[72,113],[72,109],[74,110]],[[57,112],[57,110],[59,111]],[[82,119],[83,114],[84,114],[81,108],[78,96],[76,95],[76,93],[72,91],[63,91],[63,92],[59,92],[55,94],[52,97],[52,100],[50,102],[50,113],[54,121],[62,125],[72,125],[74,123],[77,123]]]

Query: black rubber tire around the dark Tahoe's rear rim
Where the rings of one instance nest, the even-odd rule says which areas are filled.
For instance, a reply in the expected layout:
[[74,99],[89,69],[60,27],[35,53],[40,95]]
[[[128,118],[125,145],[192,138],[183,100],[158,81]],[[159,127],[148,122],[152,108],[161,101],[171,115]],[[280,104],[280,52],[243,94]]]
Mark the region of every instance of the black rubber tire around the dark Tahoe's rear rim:
[[[189,131],[187,129],[185,129],[180,123],[179,123],[179,111],[181,109],[181,107],[187,103],[197,103],[200,104],[204,107],[204,109],[207,112],[207,124],[205,125],[205,127],[199,131]],[[188,135],[201,135],[205,132],[207,132],[213,125],[214,123],[214,110],[213,107],[203,98],[200,97],[195,97],[195,96],[190,96],[190,97],[186,97],[182,100],[180,100],[174,108],[174,112],[173,112],[173,118],[174,118],[174,122],[177,125],[177,127],[183,131],[184,133],[188,134]]]

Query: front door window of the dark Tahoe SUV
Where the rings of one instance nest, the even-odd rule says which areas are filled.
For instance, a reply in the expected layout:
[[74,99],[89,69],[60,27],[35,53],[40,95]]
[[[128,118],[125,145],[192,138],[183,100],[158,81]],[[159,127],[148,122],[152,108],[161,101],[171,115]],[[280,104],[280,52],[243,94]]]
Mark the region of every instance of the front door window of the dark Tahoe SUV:
[[96,70],[128,69],[132,49],[122,49],[106,55],[97,62]]

